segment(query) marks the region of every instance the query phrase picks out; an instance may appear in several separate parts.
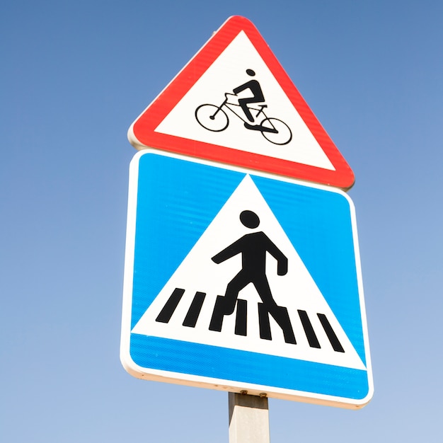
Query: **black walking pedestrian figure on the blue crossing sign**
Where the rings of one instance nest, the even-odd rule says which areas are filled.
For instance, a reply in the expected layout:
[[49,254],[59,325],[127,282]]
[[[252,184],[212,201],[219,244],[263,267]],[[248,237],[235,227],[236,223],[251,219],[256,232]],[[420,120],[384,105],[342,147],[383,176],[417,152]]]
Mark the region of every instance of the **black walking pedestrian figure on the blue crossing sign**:
[[[240,221],[248,229],[255,229],[260,224],[258,215],[248,210],[241,212]],[[252,283],[263,301],[263,306],[282,328],[284,341],[296,343],[287,309],[278,306],[275,302],[266,277],[266,253],[270,253],[277,260],[277,275],[287,274],[286,256],[263,231],[258,231],[246,234],[234,241],[223,251],[214,255],[212,261],[218,265],[239,253],[241,253],[241,270],[227,284],[224,297],[217,297],[209,330],[222,330],[224,316],[234,313],[238,293]]]

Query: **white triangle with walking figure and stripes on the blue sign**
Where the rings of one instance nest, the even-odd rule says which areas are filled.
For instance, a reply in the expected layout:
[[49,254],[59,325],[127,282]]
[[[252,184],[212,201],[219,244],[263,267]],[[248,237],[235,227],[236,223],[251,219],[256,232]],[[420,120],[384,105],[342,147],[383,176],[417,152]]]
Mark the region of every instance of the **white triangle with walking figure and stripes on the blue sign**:
[[[255,264],[252,277],[248,260]],[[235,306],[223,313],[228,287]],[[366,369],[248,175],[132,333]]]

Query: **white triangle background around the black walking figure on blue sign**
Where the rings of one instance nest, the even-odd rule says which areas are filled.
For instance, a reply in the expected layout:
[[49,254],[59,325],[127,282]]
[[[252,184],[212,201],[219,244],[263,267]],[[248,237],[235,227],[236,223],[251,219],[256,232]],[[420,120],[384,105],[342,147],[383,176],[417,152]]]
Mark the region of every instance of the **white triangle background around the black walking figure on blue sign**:
[[[260,224],[255,229],[248,229],[241,223],[239,215],[245,210],[258,215]],[[217,296],[224,296],[227,284],[242,268],[241,253],[219,264],[211,259],[239,238],[254,231],[262,231],[287,257],[287,273],[277,275],[277,261],[267,253],[265,274],[275,302],[287,309],[297,343],[285,341],[282,328],[272,316],[268,316],[272,338],[260,338],[258,305],[262,299],[253,284],[248,284],[238,294],[243,306],[247,306],[246,335],[235,333],[238,321],[236,311],[224,316],[221,331],[209,329]],[[180,289],[181,298],[167,321],[158,321],[159,314],[176,289]],[[201,310],[197,310],[194,325],[183,326],[197,293],[200,294],[200,300],[204,297]],[[173,272],[132,333],[338,367],[366,369],[309,270],[248,175]],[[315,341],[316,345],[313,344]],[[333,342],[338,345],[333,345]]]

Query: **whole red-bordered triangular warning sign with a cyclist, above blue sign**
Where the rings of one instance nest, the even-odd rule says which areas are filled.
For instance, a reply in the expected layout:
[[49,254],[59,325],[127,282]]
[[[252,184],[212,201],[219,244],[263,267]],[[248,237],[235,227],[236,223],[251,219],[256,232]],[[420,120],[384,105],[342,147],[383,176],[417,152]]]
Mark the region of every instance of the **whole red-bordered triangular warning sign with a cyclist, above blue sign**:
[[354,174],[255,26],[231,17],[128,132],[146,146],[347,189]]

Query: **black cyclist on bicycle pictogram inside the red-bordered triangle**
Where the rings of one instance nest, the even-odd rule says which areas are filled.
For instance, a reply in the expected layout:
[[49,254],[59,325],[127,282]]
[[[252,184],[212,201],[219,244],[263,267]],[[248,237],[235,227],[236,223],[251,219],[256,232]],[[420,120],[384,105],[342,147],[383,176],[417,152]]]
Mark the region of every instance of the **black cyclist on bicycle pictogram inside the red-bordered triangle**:
[[[246,74],[255,76],[252,69],[246,69]],[[249,89],[252,97],[238,98],[238,93]],[[221,105],[205,103],[195,110],[195,119],[205,130],[222,132],[229,126],[227,110],[231,111],[240,120],[243,120],[247,130],[259,131],[272,144],[288,144],[292,139],[289,126],[275,117],[267,117],[265,108],[267,105],[260,104],[249,106],[250,103],[263,103],[265,98],[257,80],[251,79],[245,84],[233,89],[232,93],[224,93],[224,101]]]

